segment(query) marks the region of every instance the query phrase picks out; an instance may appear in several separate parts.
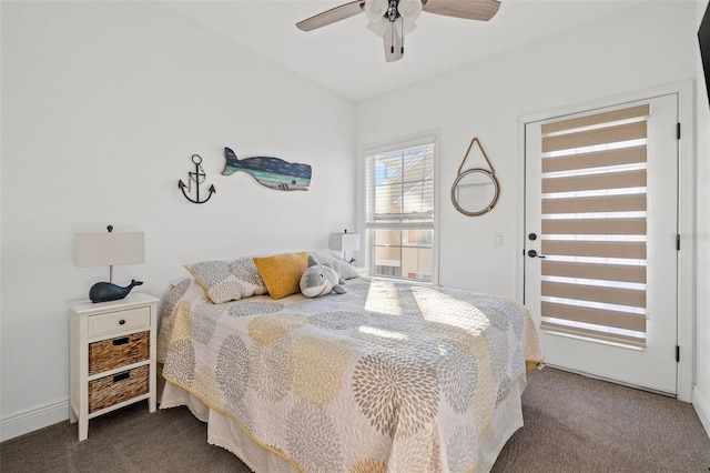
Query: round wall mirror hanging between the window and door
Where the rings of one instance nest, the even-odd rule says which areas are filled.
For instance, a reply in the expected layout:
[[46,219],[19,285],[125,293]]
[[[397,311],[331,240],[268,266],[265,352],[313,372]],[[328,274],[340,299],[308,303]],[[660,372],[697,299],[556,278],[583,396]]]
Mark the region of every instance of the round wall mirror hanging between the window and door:
[[499,192],[498,180],[490,171],[469,169],[454,181],[452,202],[464,215],[483,215],[496,205]]

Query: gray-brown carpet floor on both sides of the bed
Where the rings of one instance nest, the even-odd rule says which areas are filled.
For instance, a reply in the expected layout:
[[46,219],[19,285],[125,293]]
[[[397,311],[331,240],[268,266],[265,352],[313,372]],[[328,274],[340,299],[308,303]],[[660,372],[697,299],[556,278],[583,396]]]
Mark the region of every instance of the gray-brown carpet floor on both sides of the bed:
[[[672,399],[546,368],[529,375],[525,426],[494,472],[703,472],[710,439],[693,407]],[[0,444],[2,472],[247,472],[209,445],[184,407],[148,413],[145,402],[89,423],[62,422]]]

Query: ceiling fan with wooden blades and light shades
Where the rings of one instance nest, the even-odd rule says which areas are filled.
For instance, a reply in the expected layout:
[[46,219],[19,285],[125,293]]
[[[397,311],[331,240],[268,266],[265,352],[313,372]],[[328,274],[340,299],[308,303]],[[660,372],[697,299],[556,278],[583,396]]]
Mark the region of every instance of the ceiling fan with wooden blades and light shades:
[[356,0],[323,11],[296,23],[302,31],[312,31],[365,12],[367,28],[383,38],[385,59],[397,61],[404,56],[404,37],[416,28],[419,13],[443,14],[467,20],[490,20],[500,2],[497,0]]

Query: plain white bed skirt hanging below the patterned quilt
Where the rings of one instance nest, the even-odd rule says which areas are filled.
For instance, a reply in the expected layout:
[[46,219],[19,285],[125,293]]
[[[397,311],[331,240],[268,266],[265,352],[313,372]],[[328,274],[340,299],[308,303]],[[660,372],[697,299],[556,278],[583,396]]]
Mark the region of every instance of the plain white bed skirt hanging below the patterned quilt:
[[[510,435],[523,426],[521,394],[527,384],[525,375],[510,389],[508,396],[498,404],[490,425],[480,437],[479,460],[476,472],[488,472]],[[160,409],[186,405],[192,414],[207,423],[207,442],[229,450],[257,473],[297,472],[288,461],[264,449],[240,429],[226,414],[210,409],[197,397],[172,383],[165,383]]]

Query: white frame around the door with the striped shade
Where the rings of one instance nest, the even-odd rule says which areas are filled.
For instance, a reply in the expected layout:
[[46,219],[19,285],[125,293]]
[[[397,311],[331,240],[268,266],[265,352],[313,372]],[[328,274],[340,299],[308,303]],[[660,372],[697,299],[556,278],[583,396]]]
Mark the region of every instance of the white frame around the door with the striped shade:
[[[691,402],[694,373],[694,325],[696,325],[696,127],[693,108],[693,81],[674,82],[608,97],[599,100],[576,103],[536,113],[518,117],[518,159],[517,165],[517,221],[516,221],[516,296],[524,300],[525,279],[525,125],[534,121],[548,120],[584,110],[592,110],[615,104],[643,100],[651,97],[670,93],[678,94],[678,120],[681,135],[678,140],[678,232],[680,234],[680,251],[678,252],[678,345],[680,346],[680,362],[678,363],[677,397]],[[538,326],[539,330],[539,326]],[[545,350],[545,346],[542,346]]]

